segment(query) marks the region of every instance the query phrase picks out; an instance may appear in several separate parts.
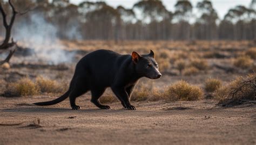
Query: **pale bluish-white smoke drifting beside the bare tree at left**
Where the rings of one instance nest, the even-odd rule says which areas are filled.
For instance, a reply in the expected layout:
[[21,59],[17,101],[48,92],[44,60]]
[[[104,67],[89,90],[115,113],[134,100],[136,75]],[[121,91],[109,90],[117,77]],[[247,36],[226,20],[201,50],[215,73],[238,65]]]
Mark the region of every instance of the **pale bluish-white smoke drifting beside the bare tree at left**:
[[[35,50],[35,56],[26,57],[26,60],[48,64],[72,62],[75,53],[64,50],[65,46],[60,43],[57,37],[58,29],[48,23],[43,14],[31,14],[29,21],[23,21],[15,27],[15,40],[23,47]],[[76,28],[72,28],[71,36],[76,33],[75,31]]]

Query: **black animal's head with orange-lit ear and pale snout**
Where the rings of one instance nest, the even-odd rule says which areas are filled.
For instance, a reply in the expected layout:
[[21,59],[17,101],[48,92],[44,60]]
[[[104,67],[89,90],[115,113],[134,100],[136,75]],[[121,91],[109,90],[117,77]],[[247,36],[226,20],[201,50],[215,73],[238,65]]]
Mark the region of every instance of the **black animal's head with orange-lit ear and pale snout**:
[[154,60],[154,52],[150,50],[150,54],[139,55],[137,52],[132,52],[132,61],[135,64],[135,68],[138,74],[157,79],[161,77],[161,73],[158,70],[158,63]]

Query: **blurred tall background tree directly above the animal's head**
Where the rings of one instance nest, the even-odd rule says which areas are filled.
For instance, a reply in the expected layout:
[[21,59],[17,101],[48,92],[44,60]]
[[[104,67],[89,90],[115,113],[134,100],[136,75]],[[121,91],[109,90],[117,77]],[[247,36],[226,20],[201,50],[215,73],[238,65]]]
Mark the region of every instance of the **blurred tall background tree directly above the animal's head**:
[[167,33],[170,32],[169,24],[172,17],[161,1],[140,1],[133,5],[133,11],[143,25],[144,39],[167,37]]

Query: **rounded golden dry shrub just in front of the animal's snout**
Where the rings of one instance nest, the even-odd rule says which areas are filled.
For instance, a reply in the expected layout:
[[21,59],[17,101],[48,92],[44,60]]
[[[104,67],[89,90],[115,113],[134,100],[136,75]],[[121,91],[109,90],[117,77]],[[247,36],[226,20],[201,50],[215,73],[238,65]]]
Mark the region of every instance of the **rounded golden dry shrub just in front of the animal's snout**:
[[185,81],[179,81],[169,87],[164,92],[167,100],[198,100],[202,98],[203,91],[198,86],[193,86]]

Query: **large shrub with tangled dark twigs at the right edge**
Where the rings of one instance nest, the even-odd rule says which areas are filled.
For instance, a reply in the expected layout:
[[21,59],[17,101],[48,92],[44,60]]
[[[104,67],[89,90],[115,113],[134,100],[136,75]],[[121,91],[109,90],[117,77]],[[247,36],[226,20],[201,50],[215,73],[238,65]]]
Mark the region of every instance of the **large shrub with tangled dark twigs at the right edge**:
[[223,106],[239,105],[245,100],[255,100],[256,75],[239,77],[214,92],[214,98]]

